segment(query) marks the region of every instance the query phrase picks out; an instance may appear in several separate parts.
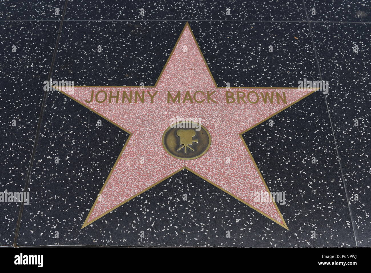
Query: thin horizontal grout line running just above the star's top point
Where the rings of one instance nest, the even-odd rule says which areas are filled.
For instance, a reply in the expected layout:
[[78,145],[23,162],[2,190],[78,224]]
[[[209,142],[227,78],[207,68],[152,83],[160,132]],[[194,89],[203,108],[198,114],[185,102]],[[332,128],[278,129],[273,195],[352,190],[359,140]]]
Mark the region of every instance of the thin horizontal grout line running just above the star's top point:
[[[60,20],[0,20],[0,22],[59,22]],[[271,23],[353,23],[353,24],[370,24],[371,22],[355,22],[355,21],[277,21],[277,20],[63,20],[63,22],[271,22]]]

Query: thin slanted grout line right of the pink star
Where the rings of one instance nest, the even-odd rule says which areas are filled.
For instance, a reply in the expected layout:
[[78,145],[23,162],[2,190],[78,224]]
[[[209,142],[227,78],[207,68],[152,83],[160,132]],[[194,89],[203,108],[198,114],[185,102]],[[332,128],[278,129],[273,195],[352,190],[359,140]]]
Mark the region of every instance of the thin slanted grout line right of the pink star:
[[[308,17],[308,13],[307,13],[307,11],[306,11],[305,1],[304,1],[304,0],[303,0],[303,5],[304,5],[304,10],[305,10],[306,17],[307,17],[307,19],[308,19],[309,32],[311,33],[311,38],[312,38],[312,43],[313,43],[313,49],[314,49],[314,56],[315,56],[315,58],[316,58],[317,68],[318,68],[318,72],[319,72],[319,78],[320,78],[321,81],[322,81],[322,73],[321,73],[321,68],[320,68],[320,66],[319,66],[318,57],[317,57],[317,52],[316,52],[316,47],[315,47],[315,43],[314,43],[314,39],[313,39],[313,33],[312,33],[311,22],[309,21],[309,17]],[[343,180],[344,191],[345,191],[345,197],[347,198],[349,214],[350,214],[350,218],[351,218],[351,221],[352,221],[352,228],[353,228],[353,234],[354,234],[355,246],[358,247],[357,236],[356,236],[356,234],[355,234],[354,218],[353,218],[352,210],[351,210],[351,208],[350,208],[349,197],[348,197],[348,191],[347,191],[347,184],[345,183],[345,180],[344,180],[343,168],[342,168],[342,166],[341,166],[341,162],[340,162],[340,155],[339,155],[338,145],[336,144],[336,137],[335,137],[334,127],[332,126],[331,115],[330,115],[330,109],[329,109],[329,107],[328,107],[328,102],[327,102],[326,95],[323,94],[323,96],[325,97],[325,102],[326,102],[326,107],[327,107],[328,117],[329,117],[329,119],[330,119],[330,125],[331,125],[331,130],[332,130],[332,136],[334,137],[335,149],[336,149],[336,154],[337,154],[338,162],[339,162],[339,168],[340,168],[340,173],[341,173],[341,179]]]

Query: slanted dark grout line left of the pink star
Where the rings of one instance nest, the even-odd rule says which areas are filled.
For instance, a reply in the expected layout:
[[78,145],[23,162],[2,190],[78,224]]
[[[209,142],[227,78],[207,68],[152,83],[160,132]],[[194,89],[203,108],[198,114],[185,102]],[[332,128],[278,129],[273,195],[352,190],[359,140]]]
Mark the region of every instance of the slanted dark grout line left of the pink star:
[[[63,26],[64,17],[65,17],[65,14],[66,14],[67,3],[68,3],[68,0],[65,1],[65,6],[64,6],[64,9],[63,9],[63,14],[62,14],[62,19],[60,20],[59,30],[58,30],[57,39],[56,39],[56,42],[55,42],[55,47],[54,47],[54,52],[53,52],[53,57],[52,57],[52,62],[50,64],[49,74],[48,74],[48,78],[47,78],[48,80],[50,80],[53,76],[54,62],[55,62],[57,51],[58,51],[58,44],[59,44],[60,34],[62,33],[62,26]],[[32,165],[33,165],[33,160],[34,160],[35,153],[36,153],[36,145],[37,145],[37,142],[39,140],[40,128],[41,128],[44,109],[45,109],[45,105],[46,105],[47,95],[48,95],[48,91],[45,91],[44,97],[43,97],[43,102],[42,102],[41,109],[40,109],[39,121],[37,122],[36,134],[35,134],[35,139],[34,139],[34,142],[33,142],[32,154],[31,154],[31,159],[30,159],[30,165],[28,167],[26,183],[25,183],[24,189],[23,189],[24,191],[27,191],[28,186],[29,186],[29,182],[30,182]],[[22,202],[21,205],[20,205],[20,209],[19,209],[16,230],[14,232],[13,247],[17,247],[17,238],[18,238],[18,233],[19,233],[19,227],[20,227],[20,221],[21,221],[21,218],[22,218],[23,208],[24,208],[24,203]]]

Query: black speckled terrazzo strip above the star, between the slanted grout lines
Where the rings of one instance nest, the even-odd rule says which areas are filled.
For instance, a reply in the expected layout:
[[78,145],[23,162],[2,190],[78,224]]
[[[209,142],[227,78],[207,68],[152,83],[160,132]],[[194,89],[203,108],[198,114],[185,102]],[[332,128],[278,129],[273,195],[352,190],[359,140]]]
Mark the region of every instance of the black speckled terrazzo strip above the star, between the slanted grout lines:
[[[141,10],[143,9],[143,10]],[[229,15],[227,9],[230,9]],[[141,13],[142,12],[142,13]],[[143,13],[144,12],[144,13]],[[304,20],[303,1],[70,1],[66,20]]]

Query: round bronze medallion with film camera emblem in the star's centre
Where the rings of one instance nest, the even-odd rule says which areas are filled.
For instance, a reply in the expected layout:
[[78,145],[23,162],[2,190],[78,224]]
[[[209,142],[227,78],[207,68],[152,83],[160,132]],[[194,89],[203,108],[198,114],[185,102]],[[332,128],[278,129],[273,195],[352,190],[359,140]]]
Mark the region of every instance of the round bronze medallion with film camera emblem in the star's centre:
[[162,146],[171,156],[190,160],[203,156],[210,148],[207,129],[197,122],[180,121],[167,128],[162,135]]

